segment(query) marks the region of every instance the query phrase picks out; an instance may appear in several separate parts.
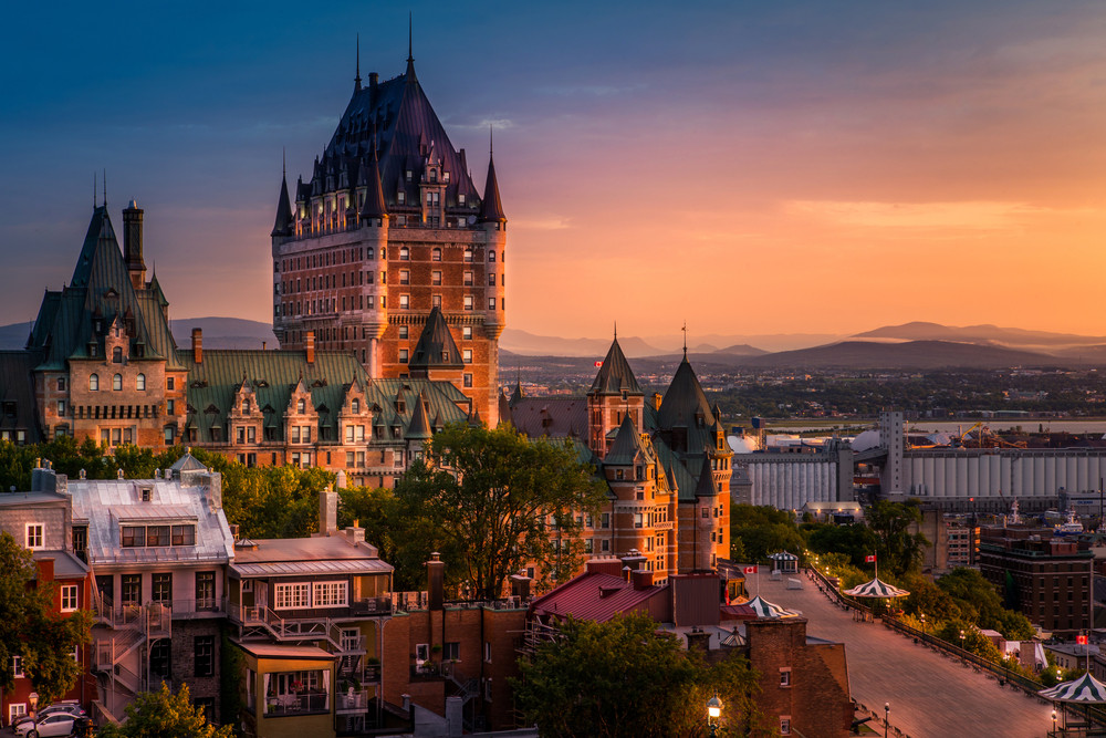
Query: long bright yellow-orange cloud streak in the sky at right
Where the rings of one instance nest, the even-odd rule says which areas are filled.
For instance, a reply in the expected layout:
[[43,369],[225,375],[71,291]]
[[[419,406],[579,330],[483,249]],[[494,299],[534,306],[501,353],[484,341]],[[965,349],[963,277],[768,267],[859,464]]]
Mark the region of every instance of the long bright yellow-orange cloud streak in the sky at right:
[[1027,202],[873,202],[839,200],[790,200],[783,204],[790,216],[812,217],[842,226],[866,228],[954,228],[1001,230],[1026,218],[1064,214],[1086,214],[1087,209],[1044,208]]

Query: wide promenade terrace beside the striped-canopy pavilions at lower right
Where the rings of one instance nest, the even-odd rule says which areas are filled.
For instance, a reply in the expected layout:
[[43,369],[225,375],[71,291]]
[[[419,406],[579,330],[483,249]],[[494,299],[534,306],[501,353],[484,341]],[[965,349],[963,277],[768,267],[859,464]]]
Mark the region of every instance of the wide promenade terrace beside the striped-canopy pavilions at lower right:
[[[785,582],[762,575],[760,593],[770,602],[803,611],[808,635],[845,644],[853,698],[880,717],[884,703],[890,703],[890,735],[898,728],[910,738],[1042,738],[1052,729],[1052,705],[1026,697],[1021,689],[1000,687],[984,674],[915,645],[885,625],[854,622],[806,576],[802,590],[787,590]],[[755,579],[749,582],[753,594],[757,588]]]

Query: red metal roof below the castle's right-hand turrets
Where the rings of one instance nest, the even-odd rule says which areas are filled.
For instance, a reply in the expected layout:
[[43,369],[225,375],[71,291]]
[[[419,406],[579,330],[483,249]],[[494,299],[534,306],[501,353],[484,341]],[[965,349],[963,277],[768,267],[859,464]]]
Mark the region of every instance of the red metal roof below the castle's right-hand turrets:
[[540,617],[572,615],[576,620],[604,623],[615,615],[640,609],[654,596],[667,596],[667,584],[637,590],[622,576],[585,572],[534,600],[530,611]]

